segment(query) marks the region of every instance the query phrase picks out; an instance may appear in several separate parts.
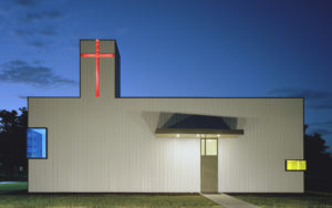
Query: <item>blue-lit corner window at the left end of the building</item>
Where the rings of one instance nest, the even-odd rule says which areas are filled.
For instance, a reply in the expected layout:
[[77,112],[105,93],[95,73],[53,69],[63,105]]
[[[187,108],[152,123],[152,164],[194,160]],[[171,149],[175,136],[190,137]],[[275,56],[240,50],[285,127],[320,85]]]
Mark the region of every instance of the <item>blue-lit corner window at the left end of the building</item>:
[[45,159],[48,158],[48,129],[28,128],[27,131],[27,157]]

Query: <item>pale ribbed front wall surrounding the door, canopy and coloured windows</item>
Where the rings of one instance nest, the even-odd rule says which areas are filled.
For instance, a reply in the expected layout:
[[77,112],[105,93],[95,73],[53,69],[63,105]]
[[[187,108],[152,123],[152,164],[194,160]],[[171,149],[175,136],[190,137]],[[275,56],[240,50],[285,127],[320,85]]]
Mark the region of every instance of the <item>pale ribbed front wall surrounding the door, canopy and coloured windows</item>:
[[238,117],[219,139],[219,191],[301,193],[302,98],[29,98],[29,126],[48,127],[48,159],[29,159],[29,191],[199,193],[197,138],[155,138],[159,113]]

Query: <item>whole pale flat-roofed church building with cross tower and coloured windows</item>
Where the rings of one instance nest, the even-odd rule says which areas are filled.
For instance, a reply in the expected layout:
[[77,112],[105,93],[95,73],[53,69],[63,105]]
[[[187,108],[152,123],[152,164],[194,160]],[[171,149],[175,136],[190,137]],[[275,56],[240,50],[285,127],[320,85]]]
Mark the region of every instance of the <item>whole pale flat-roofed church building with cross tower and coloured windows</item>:
[[80,50],[79,97],[28,98],[29,193],[304,191],[302,97],[122,97],[116,42]]

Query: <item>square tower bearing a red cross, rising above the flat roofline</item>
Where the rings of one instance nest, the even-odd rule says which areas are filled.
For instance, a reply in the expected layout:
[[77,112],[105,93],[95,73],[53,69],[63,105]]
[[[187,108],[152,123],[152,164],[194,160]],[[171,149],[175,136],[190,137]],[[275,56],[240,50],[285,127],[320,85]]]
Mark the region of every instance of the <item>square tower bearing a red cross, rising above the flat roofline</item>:
[[121,96],[120,53],[115,40],[81,40],[81,98]]

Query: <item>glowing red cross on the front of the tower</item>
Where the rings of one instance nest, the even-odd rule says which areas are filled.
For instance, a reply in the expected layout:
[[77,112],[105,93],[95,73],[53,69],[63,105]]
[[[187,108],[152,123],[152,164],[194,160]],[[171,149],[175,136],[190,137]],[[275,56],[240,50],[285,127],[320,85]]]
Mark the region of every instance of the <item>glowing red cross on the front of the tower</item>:
[[100,58],[114,58],[114,53],[100,54],[100,40],[95,40],[95,53],[81,54],[82,58],[95,58],[95,96],[100,96]]

